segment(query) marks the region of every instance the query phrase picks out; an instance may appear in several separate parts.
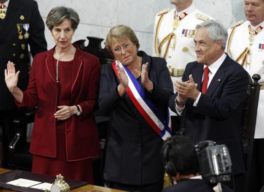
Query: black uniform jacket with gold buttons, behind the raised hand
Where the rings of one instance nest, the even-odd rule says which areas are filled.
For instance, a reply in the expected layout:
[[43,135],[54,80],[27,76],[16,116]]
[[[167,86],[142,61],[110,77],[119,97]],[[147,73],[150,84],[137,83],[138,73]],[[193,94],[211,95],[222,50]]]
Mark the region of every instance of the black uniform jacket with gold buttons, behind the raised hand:
[[[29,24],[28,39],[18,38],[17,24]],[[6,18],[0,26],[0,110],[15,108],[14,97],[5,83],[4,70],[7,68],[7,62],[10,60],[15,63],[16,71],[20,71],[18,87],[25,90],[30,70],[28,44],[33,57],[36,53],[46,51],[44,28],[36,1],[10,0]],[[21,35],[24,34],[23,28]]]

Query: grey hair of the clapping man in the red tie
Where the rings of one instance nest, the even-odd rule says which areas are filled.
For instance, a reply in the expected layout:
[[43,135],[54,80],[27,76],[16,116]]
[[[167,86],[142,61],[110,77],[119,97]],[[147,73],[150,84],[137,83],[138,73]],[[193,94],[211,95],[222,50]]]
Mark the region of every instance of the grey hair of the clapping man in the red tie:
[[196,30],[201,27],[206,27],[208,29],[208,35],[211,40],[213,42],[220,40],[222,42],[221,48],[223,50],[225,49],[228,34],[224,26],[219,21],[208,20],[201,24],[197,24]]

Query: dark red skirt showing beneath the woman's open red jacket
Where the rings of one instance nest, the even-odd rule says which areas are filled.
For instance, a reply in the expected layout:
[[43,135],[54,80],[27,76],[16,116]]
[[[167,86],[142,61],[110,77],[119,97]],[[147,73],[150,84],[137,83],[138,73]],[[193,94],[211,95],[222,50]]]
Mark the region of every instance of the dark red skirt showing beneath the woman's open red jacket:
[[[64,123],[57,125],[56,142],[57,157],[45,157],[33,155],[32,172],[44,175],[56,176],[61,174],[64,178],[86,181],[93,184],[92,158],[75,162],[67,162]],[[77,149],[76,149],[77,150]]]

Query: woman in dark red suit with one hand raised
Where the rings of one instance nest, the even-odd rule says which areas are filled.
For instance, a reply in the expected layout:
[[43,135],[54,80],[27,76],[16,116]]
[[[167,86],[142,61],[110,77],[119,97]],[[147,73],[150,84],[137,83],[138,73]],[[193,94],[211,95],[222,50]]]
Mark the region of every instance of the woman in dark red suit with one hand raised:
[[56,45],[35,56],[27,90],[17,87],[19,71],[10,61],[6,84],[19,107],[38,107],[30,144],[32,172],[92,184],[92,157],[100,154],[93,118],[99,60],[71,43],[79,24],[73,9],[52,9],[46,24]]

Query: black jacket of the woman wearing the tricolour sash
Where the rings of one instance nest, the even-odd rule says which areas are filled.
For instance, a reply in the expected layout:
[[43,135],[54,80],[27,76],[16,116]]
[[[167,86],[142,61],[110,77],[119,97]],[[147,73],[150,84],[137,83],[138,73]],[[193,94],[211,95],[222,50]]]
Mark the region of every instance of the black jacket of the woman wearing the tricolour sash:
[[[173,85],[166,60],[150,57],[143,51],[142,63],[149,62],[148,73],[154,89],[148,97],[167,117],[168,100]],[[140,81],[140,79],[139,79]],[[110,113],[104,178],[123,184],[149,184],[162,180],[161,147],[163,140],[136,109],[127,93],[117,92],[119,80],[111,65],[104,65],[101,74],[99,107]]]

